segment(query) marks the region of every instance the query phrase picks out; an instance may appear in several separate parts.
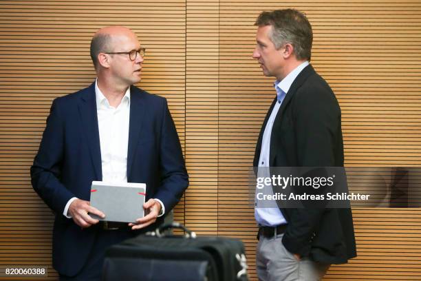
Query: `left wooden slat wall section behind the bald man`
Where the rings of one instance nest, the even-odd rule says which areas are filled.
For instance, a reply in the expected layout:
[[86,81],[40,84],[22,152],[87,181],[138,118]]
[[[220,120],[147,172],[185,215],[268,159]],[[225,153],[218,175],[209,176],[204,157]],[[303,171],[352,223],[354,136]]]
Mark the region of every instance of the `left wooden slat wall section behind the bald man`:
[[[87,87],[89,43],[98,28],[126,25],[147,48],[141,86],[169,101],[185,145],[184,1],[0,2],[0,264],[42,264],[49,280],[51,211],[30,185],[52,100]],[[184,222],[184,202],[175,209]],[[22,279],[22,278],[17,278]]]

